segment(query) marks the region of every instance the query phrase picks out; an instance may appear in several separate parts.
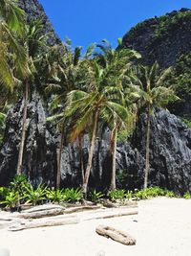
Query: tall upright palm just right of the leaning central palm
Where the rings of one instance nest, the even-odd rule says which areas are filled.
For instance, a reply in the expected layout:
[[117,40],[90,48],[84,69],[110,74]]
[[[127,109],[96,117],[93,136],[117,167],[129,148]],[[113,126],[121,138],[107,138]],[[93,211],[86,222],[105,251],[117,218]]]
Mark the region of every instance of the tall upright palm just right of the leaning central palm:
[[[117,50],[112,49],[111,44],[103,40],[103,44],[98,45],[100,51],[96,54],[97,61],[109,70],[108,75],[113,83],[112,86],[118,90],[120,99],[117,99],[117,102],[121,105],[121,113],[123,112],[120,119],[115,113],[110,118],[113,126],[111,133],[112,172],[110,190],[116,189],[117,133],[120,129],[130,129],[132,119],[135,117],[133,111],[135,108],[133,107],[133,102],[130,103],[129,91],[126,93],[128,87],[126,81],[128,81],[128,74],[133,65],[132,59],[140,58],[137,52],[124,50],[120,46],[120,39],[118,39]],[[108,125],[111,126],[111,124]]]

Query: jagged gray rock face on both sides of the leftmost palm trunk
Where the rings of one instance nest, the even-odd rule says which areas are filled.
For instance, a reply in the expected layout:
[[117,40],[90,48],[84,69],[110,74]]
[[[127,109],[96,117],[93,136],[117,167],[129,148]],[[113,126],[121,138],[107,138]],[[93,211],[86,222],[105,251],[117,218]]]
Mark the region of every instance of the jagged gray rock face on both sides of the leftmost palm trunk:
[[[0,185],[7,185],[16,173],[21,140],[23,102],[11,108],[5,138],[0,150]],[[55,143],[46,128],[45,111],[38,94],[34,93],[28,105],[27,134],[24,148],[23,173],[33,184],[41,181],[53,185],[55,170]]]

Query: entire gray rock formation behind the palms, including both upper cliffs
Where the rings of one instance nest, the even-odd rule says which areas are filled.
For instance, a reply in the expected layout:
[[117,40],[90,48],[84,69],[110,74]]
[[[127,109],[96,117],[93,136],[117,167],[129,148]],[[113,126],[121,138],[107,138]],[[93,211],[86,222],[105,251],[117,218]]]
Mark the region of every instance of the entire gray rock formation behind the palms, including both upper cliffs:
[[[38,1],[20,0],[20,4],[29,14],[29,20],[32,16],[43,17],[45,30],[53,31],[51,23]],[[185,10],[181,10],[180,13],[184,12]],[[173,18],[177,14],[177,12],[173,12],[170,17]],[[189,28],[182,23],[181,29],[178,28],[175,35],[171,34],[166,37],[166,40],[170,41],[168,45],[164,46],[163,44],[167,41],[153,39],[154,30],[159,26],[159,22],[159,18],[155,18],[145,21],[143,25],[138,25],[130,34],[124,36],[123,45],[138,50],[145,62],[148,61],[146,57],[151,52],[154,54],[153,59],[157,58],[163,66],[166,66],[174,63],[175,57],[177,58],[180,51],[191,47],[191,33]],[[185,36],[187,36],[186,39]],[[56,40],[56,35],[54,35],[51,43]],[[22,109],[23,102],[20,100],[11,108],[8,115],[5,137],[0,148],[0,185],[7,185],[15,174],[21,135]],[[156,111],[152,118],[151,129],[149,183],[179,193],[191,192],[191,129],[186,128],[180,119],[165,110]],[[39,182],[45,182],[48,185],[55,184],[58,142],[59,136],[46,123],[46,111],[43,108],[42,100],[37,93],[33,93],[32,101],[28,106],[27,139],[23,163],[24,173],[29,176],[33,184]],[[87,163],[89,144],[88,135],[85,135],[82,149],[84,165]],[[105,131],[96,139],[90,177],[90,185],[97,189],[104,190],[109,185],[111,171],[109,148],[110,132]],[[117,145],[118,187],[132,189],[142,186],[144,156],[145,116],[142,114],[130,141]],[[61,172],[62,186],[78,186],[80,184],[81,170],[77,142],[74,145],[63,147]]]

